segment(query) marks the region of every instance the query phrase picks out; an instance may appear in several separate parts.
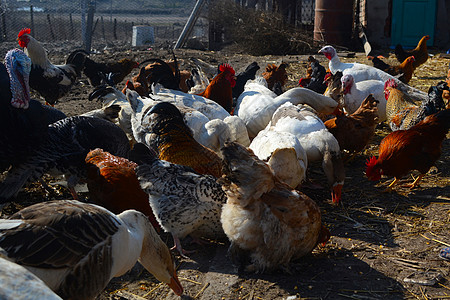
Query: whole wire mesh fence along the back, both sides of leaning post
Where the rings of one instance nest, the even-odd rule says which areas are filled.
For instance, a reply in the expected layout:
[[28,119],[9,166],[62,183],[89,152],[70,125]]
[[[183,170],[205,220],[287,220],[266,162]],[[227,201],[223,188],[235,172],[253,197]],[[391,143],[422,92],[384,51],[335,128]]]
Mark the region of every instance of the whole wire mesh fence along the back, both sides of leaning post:
[[[187,39],[187,47],[195,48],[195,41],[207,45],[209,38],[208,7],[203,8]],[[250,0],[236,0],[247,6]],[[264,3],[265,9],[275,7],[278,0],[253,0]],[[245,2],[245,3],[244,3]],[[270,3],[269,3],[270,2]],[[286,1],[285,1],[286,2]],[[289,1],[288,1],[289,2]],[[295,2],[295,22],[301,26],[314,23],[314,0]],[[92,47],[101,44],[129,44],[133,26],[153,27],[154,41],[173,45],[180,36],[196,0],[0,0],[0,41],[15,41],[24,27],[42,42],[73,41],[86,43],[89,8],[93,6]],[[270,4],[270,5],[269,5]],[[256,5],[257,8],[257,5]],[[292,13],[290,13],[292,15]],[[194,42],[192,42],[194,41]]]

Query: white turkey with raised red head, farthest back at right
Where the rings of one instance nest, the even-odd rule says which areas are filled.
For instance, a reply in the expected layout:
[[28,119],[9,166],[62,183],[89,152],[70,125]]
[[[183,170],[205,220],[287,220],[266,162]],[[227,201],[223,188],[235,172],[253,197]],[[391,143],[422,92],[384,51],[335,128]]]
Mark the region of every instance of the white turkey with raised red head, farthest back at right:
[[[342,71],[343,75],[351,74],[355,82],[360,82],[364,80],[381,80],[382,82],[386,82],[389,79],[395,80],[398,85],[398,88],[407,93],[409,96],[414,99],[423,100],[427,98],[427,94],[422,92],[416,88],[413,88],[403,82],[401,82],[398,78],[380,70],[373,66],[369,66],[366,64],[360,63],[343,63],[339,59],[337,55],[336,49],[333,46],[325,46],[319,50],[319,53],[323,53],[326,58],[330,61],[328,63],[328,67],[331,73],[335,74],[337,71]],[[364,98],[363,98],[364,99]]]

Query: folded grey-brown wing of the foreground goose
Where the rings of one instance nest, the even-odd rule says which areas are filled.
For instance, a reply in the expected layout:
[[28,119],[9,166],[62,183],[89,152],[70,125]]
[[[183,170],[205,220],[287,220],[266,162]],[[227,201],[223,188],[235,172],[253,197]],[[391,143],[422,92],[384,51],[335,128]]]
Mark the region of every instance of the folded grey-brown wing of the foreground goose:
[[98,255],[121,224],[103,208],[76,201],[38,203],[10,217],[15,219],[21,220],[16,227],[0,229],[1,251],[37,268],[73,268],[86,256]]

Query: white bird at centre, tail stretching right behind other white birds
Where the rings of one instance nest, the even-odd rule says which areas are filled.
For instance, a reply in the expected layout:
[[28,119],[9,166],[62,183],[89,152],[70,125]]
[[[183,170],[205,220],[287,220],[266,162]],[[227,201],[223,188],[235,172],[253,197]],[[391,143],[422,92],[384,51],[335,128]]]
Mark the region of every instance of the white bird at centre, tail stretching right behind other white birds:
[[283,103],[308,104],[317,112],[332,113],[337,102],[310,89],[293,88],[276,96],[267,88],[264,78],[247,81],[237,100],[235,114],[246,124],[248,135],[254,138],[269,124],[275,110]]

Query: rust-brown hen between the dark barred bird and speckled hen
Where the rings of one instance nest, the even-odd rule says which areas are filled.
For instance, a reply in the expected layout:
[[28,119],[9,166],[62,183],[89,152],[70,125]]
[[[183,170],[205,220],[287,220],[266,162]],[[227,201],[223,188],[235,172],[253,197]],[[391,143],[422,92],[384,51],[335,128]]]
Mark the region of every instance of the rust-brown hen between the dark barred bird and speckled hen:
[[88,153],[86,164],[86,181],[92,201],[115,214],[128,209],[138,210],[149,218],[153,227],[160,229],[148,195],[137,179],[136,163],[97,148]]

